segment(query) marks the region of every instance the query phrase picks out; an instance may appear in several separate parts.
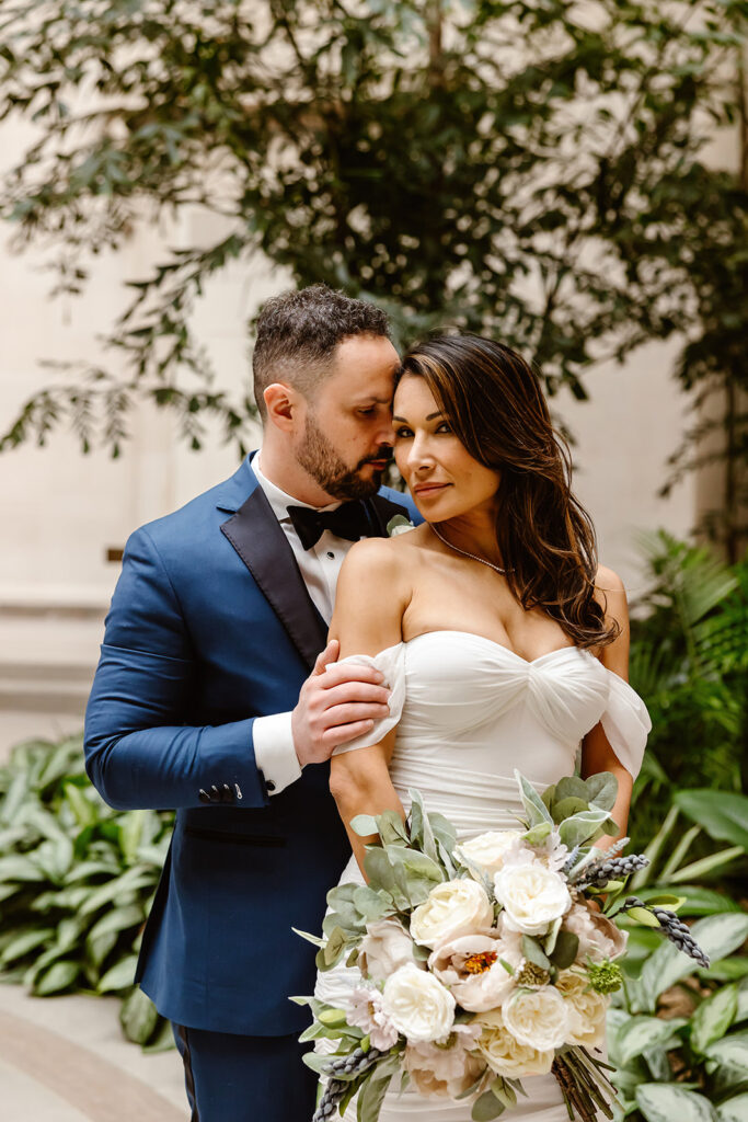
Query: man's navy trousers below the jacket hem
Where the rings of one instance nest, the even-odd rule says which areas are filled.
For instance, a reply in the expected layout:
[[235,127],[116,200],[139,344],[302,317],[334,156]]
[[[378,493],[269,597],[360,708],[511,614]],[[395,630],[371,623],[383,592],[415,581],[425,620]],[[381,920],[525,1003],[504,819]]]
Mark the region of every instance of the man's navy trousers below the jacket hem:
[[191,1122],[311,1122],[317,1077],[293,1037],[240,1037],[175,1024]]

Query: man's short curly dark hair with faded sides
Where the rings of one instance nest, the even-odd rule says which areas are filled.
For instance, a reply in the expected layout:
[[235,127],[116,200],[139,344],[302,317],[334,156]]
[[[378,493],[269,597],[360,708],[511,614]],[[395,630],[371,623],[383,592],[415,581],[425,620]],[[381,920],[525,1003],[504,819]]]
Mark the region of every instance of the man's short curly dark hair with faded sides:
[[257,321],[252,353],[255,401],[262,420],[268,386],[289,381],[308,396],[329,373],[338,344],[351,335],[389,339],[386,314],[324,284],[268,300]]

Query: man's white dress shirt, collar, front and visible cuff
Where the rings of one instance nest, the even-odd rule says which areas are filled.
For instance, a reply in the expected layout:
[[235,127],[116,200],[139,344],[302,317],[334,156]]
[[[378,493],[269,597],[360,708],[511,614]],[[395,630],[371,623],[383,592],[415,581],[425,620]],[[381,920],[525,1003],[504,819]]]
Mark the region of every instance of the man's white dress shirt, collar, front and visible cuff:
[[[299,568],[304,583],[320,615],[330,623],[335,604],[338,574],[343,559],[353,542],[339,537],[325,530],[322,537],[311,549],[305,550],[288,514],[289,506],[305,506],[310,509],[334,511],[340,503],[329,506],[312,507],[287,495],[262,473],[260,453],[252,460],[252,471],[273,507],[273,513],[280,523],[280,528],[288,539],[294,551],[296,564]],[[255,739],[255,760],[265,775],[265,782],[270,794],[279,794],[289,783],[294,783],[302,774],[302,769],[294,747],[290,728],[290,712],[277,712],[269,717],[257,717],[252,729]]]

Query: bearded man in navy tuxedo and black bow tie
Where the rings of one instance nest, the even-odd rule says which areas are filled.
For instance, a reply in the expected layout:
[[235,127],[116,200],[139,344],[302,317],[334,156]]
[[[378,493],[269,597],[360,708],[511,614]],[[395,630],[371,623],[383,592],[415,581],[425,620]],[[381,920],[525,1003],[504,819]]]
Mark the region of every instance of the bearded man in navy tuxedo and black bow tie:
[[373,669],[325,671],[326,629],[351,543],[414,515],[379,487],[399,365],[381,311],[278,296],[252,361],[262,450],[132,534],[86,712],[102,797],[177,811],[137,981],[174,1023],[193,1122],[312,1116],[288,996],[314,957],[292,926],[320,929],[349,855],[329,757],[388,696]]

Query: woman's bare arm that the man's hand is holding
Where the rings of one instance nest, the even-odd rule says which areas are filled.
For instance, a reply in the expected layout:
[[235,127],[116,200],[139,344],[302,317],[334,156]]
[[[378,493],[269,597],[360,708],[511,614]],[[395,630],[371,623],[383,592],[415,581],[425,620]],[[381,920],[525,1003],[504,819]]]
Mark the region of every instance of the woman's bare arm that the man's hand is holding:
[[[409,600],[401,551],[394,542],[367,539],[352,546],[338,579],[335,614],[330,637],[340,640],[340,655],[375,655],[395,646],[403,637],[403,614]],[[389,778],[395,730],[378,744],[332,756],[330,790],[348,831],[359,867],[363,872],[364,846],[350,828],[357,815],[405,811]]]

